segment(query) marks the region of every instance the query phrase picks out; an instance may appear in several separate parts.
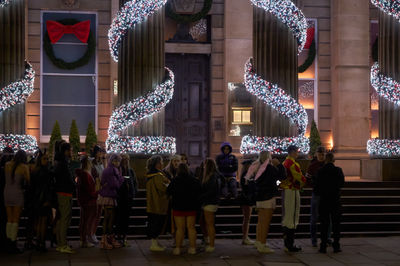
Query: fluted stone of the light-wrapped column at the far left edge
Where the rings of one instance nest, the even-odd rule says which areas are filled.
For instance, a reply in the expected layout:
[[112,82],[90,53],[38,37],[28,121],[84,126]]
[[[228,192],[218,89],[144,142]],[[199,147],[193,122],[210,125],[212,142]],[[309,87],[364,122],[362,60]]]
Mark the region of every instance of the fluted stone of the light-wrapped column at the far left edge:
[[[25,1],[0,8],[0,88],[17,81],[25,72]],[[0,134],[25,133],[25,104],[0,112]]]

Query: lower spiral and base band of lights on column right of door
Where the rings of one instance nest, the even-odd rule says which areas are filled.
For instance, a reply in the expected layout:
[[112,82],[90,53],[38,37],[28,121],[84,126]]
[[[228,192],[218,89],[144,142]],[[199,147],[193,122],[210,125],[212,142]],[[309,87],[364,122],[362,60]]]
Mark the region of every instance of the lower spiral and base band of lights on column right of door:
[[290,145],[296,145],[300,152],[308,153],[310,150],[309,139],[304,136],[308,124],[308,115],[302,105],[288,95],[278,85],[263,80],[254,70],[249,59],[245,66],[244,76],[246,89],[267,105],[288,117],[290,122],[295,124],[298,129],[298,137],[257,137],[244,136],[240,146],[243,154],[260,153],[270,151],[274,154],[286,153]]

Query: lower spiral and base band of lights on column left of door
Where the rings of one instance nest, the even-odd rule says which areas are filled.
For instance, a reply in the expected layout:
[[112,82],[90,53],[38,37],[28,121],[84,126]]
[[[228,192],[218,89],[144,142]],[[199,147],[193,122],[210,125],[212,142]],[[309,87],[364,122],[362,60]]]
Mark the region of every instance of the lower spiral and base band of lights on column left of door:
[[108,128],[106,141],[109,152],[133,153],[176,153],[175,138],[172,137],[130,137],[121,136],[123,131],[140,120],[152,116],[164,108],[174,95],[174,74],[166,68],[168,78],[158,85],[154,91],[114,110]]

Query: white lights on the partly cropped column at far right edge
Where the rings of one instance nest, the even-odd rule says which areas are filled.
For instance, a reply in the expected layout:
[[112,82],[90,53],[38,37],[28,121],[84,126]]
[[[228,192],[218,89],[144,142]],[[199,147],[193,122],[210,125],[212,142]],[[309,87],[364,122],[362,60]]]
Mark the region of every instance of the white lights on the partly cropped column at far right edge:
[[[400,1],[371,0],[371,2],[384,13],[400,21]],[[400,106],[400,82],[380,73],[378,62],[371,67],[371,85],[380,97]],[[370,139],[367,142],[367,151],[370,155],[375,156],[400,156],[400,140]]]

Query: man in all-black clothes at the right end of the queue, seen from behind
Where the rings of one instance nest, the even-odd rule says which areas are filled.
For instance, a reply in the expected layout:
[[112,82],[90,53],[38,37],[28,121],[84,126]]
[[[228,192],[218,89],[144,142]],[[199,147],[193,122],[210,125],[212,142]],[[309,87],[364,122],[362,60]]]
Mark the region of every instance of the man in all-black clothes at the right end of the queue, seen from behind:
[[332,221],[333,252],[341,252],[340,249],[340,218],[341,204],[340,192],[344,186],[344,174],[342,168],[334,165],[333,153],[328,153],[326,164],[318,171],[315,180],[315,189],[320,195],[319,215],[321,221],[321,246],[319,252],[326,253],[328,242],[329,223]]

